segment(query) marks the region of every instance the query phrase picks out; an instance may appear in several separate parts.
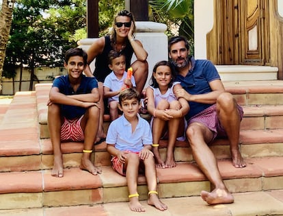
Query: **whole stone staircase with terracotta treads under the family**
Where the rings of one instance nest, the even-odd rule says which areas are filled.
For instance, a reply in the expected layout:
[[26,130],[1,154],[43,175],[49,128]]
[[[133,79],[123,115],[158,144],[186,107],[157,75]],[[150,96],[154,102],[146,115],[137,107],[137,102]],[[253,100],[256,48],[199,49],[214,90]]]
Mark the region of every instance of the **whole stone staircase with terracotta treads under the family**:
[[[244,197],[244,194],[256,200],[253,193],[266,197],[267,191],[275,190],[281,202],[270,205],[272,209],[269,208],[265,215],[283,215],[283,197],[278,195],[283,194],[283,81],[224,82],[224,86],[244,108],[240,146],[247,161],[247,167],[234,168],[230,163],[228,140],[215,141],[211,149],[217,156],[224,182],[236,194],[236,203],[237,197]],[[23,215],[27,209],[33,209],[37,215],[36,210],[42,208],[49,209],[47,215],[55,215],[51,209],[59,206],[69,206],[73,215],[81,215],[78,209],[83,206],[94,215],[104,215],[102,204],[111,208],[109,205],[113,202],[118,203],[111,205],[116,208],[113,207],[110,215],[121,215],[119,208],[128,200],[126,179],[111,169],[106,143],[96,145],[93,154],[95,165],[103,169],[102,174],[92,176],[78,168],[82,143],[62,143],[64,178],[51,176],[53,154],[46,126],[46,101],[50,88],[51,84],[37,84],[36,91],[16,93],[0,122],[0,215],[20,209]],[[109,117],[105,116],[105,121],[108,121],[105,123],[107,128]],[[163,156],[165,145],[166,141],[161,142]],[[174,202],[187,205],[190,199],[197,198],[201,203],[198,208],[205,208],[206,204],[199,195],[202,190],[210,191],[211,184],[193,162],[187,142],[176,142],[175,158],[177,167],[157,169],[159,197],[166,198],[164,202],[173,206]],[[139,176],[138,182],[140,199],[146,200],[144,176]],[[233,207],[229,208],[232,212]],[[250,214],[233,215],[260,215],[262,212],[256,207]],[[195,213],[206,215],[208,212],[202,209]],[[226,215],[219,211],[214,211],[214,214]]]

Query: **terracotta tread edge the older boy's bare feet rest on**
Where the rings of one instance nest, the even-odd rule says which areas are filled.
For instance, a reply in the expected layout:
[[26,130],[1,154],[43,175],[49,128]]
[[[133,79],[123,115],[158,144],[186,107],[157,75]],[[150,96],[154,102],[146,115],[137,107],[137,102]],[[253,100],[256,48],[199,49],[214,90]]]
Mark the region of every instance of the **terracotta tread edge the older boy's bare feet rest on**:
[[[247,167],[237,169],[230,160],[219,160],[219,171],[224,180],[256,179],[261,182],[258,189],[283,189],[282,165],[283,157],[248,158]],[[38,193],[51,191],[75,191],[82,189],[126,187],[126,178],[119,175],[110,166],[102,167],[103,172],[93,176],[79,168],[64,169],[63,178],[51,176],[50,170],[0,173],[0,193]],[[77,178],[80,176],[80,178]],[[207,182],[204,174],[194,163],[178,163],[174,168],[157,169],[159,184],[181,182]],[[268,178],[279,180],[267,185]],[[76,181],[74,181],[76,179]],[[144,176],[139,176],[139,185],[145,185]],[[240,186],[239,186],[240,187]],[[247,187],[247,185],[242,185]],[[273,187],[273,188],[272,188]],[[238,189],[237,189],[238,190]],[[246,190],[246,189],[245,189]],[[243,192],[233,191],[231,192]]]

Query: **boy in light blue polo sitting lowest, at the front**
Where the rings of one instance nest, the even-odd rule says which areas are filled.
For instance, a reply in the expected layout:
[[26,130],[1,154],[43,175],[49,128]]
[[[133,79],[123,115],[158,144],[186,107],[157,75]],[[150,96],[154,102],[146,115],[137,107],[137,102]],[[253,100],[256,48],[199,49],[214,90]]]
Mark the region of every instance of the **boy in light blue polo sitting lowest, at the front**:
[[140,165],[145,168],[148,204],[165,211],[167,206],[159,200],[157,193],[157,173],[153,153],[150,151],[152,133],[149,123],[139,117],[139,99],[139,93],[133,88],[127,88],[120,93],[118,108],[123,115],[109,125],[107,151],[113,156],[113,169],[126,176],[131,211],[145,211],[144,206],[139,203],[137,193],[137,176],[142,168]]

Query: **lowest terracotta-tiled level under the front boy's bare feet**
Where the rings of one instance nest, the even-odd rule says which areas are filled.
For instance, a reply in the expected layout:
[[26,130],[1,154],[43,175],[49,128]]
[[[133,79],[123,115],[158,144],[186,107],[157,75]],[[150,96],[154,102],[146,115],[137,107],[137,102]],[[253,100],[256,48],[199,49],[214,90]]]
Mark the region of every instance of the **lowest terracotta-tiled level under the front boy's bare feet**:
[[0,210],[0,215],[34,215],[34,216],[105,216],[105,215],[164,215],[164,216],[239,216],[239,215],[283,215],[283,190],[256,191],[234,193],[234,204],[219,204],[208,206],[200,196],[175,197],[161,199],[167,204],[167,211],[160,212],[153,206],[148,206],[146,200],[145,213],[133,213],[128,202],[113,202],[107,204],[25,208]]

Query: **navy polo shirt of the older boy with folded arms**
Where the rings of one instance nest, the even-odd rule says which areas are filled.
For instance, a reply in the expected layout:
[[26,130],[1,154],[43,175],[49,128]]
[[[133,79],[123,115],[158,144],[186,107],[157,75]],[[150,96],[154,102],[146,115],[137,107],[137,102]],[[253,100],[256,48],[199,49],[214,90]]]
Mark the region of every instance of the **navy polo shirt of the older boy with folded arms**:
[[[59,88],[59,93],[64,95],[80,95],[80,94],[87,94],[92,93],[93,88],[98,88],[98,83],[96,79],[93,77],[86,77],[82,75],[81,84],[79,88],[75,92],[72,86],[70,85],[68,75],[62,75],[57,77],[53,81],[52,87]],[[79,106],[69,106],[69,105],[61,105],[61,113],[66,119],[75,119],[79,118],[85,114],[85,108]]]

